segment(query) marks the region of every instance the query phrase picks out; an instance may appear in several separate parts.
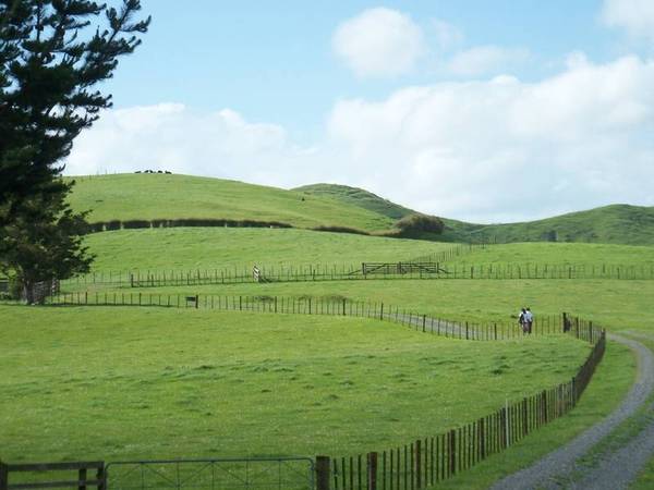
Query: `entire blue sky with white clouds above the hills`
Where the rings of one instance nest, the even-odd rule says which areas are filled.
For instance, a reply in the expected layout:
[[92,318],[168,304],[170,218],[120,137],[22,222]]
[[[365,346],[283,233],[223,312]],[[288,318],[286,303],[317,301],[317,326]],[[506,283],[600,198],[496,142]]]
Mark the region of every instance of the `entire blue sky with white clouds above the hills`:
[[654,206],[654,0],[142,0],[68,174],[365,187],[477,222]]

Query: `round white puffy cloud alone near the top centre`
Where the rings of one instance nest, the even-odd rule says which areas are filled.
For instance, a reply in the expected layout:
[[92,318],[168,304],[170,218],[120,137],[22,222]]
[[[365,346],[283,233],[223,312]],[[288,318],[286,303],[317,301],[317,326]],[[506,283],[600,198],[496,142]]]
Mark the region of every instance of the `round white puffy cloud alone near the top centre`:
[[407,73],[426,49],[420,26],[408,15],[386,8],[365,10],[341,23],[332,48],[359,76]]

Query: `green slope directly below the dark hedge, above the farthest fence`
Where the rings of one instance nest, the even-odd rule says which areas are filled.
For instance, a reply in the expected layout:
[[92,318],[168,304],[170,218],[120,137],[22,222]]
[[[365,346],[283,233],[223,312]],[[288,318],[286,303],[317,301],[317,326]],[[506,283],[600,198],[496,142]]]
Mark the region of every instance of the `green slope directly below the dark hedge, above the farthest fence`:
[[[292,229],[169,228],[94,233],[93,270],[214,270],[252,265],[338,265],[407,260],[451,244]],[[339,267],[340,268],[340,267]],[[240,270],[242,272],[242,270]]]

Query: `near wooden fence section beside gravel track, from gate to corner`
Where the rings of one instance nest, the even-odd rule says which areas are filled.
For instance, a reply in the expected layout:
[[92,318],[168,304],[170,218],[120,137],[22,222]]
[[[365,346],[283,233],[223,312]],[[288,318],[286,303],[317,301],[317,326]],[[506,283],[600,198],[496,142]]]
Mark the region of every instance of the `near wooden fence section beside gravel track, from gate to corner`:
[[[464,471],[513,445],[534,430],[569,413],[579,402],[606,347],[606,334],[590,322],[589,357],[568,382],[439,434],[354,456],[318,456],[329,481],[318,490],[424,489]],[[316,462],[317,463],[317,462]],[[325,480],[325,476],[318,481]]]

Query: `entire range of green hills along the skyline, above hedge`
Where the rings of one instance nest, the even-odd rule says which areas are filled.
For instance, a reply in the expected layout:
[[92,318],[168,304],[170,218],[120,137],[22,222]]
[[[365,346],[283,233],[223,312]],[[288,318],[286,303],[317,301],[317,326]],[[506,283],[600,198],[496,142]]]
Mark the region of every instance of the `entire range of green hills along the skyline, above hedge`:
[[[90,209],[92,222],[209,218],[278,221],[295,228],[329,226],[387,234],[398,219],[415,212],[365,189],[335,184],[284,191],[169,174],[116,174],[75,180],[77,184],[70,201],[75,209]],[[611,205],[506,224],[443,220],[444,234],[425,235],[425,240],[654,245],[654,207]]]

